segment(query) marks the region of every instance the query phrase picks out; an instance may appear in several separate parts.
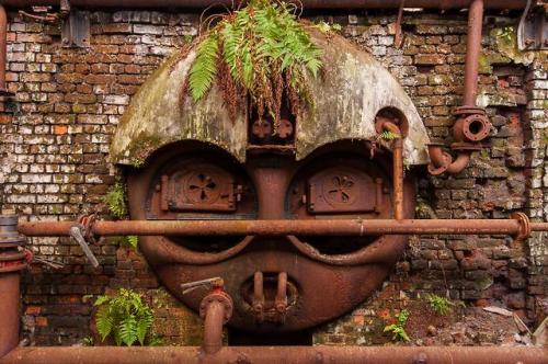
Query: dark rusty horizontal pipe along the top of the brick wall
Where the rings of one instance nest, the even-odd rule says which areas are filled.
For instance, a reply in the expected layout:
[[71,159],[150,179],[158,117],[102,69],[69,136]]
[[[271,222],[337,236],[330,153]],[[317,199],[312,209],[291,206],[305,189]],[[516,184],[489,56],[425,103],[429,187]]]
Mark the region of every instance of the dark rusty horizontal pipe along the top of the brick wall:
[[[401,0],[300,0],[305,9],[398,9]],[[238,0],[70,0],[75,8],[207,8],[231,7]],[[526,0],[486,0],[487,9],[524,9]],[[13,8],[58,5],[59,0],[2,0]],[[407,0],[406,8],[463,9],[470,0]]]

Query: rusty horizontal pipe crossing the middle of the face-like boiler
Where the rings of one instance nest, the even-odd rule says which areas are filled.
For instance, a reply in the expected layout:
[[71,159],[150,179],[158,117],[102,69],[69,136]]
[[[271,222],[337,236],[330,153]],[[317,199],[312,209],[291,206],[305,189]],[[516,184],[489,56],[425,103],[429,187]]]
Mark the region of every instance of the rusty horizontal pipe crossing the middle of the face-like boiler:
[[[75,221],[20,223],[28,237],[69,236]],[[532,230],[548,230],[548,223],[530,223]],[[515,219],[346,219],[346,220],[124,220],[96,221],[98,236],[365,236],[365,235],[516,235]]]

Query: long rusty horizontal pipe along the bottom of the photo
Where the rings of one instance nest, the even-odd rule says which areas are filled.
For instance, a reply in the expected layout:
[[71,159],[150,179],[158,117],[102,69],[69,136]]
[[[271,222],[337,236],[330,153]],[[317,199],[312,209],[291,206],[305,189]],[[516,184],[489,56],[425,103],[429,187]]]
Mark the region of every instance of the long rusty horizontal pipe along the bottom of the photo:
[[49,346],[19,348],[0,363],[546,364],[547,357],[547,349],[530,346],[225,346],[214,355],[196,346]]

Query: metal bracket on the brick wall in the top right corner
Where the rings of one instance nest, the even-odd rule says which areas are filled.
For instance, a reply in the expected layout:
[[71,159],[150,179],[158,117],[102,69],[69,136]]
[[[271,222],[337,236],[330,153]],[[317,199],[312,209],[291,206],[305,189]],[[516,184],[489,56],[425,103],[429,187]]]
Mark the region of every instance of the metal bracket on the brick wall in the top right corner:
[[548,49],[548,26],[546,22],[546,5],[538,2],[532,7],[533,0],[527,1],[527,7],[520,20],[517,27],[517,47],[520,50]]

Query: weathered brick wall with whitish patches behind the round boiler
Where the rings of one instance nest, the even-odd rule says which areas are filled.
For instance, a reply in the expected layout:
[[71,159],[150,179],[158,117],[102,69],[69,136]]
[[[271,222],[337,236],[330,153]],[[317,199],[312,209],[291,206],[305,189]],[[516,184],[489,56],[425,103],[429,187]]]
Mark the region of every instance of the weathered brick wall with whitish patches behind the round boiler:
[[[102,196],[123,179],[107,162],[116,124],[147,76],[196,34],[198,18],[93,12],[91,47],[73,49],[61,47],[57,25],[10,13],[8,87],[16,98],[0,109],[2,207],[28,219],[105,214]],[[466,14],[406,13],[401,49],[393,46],[393,13],[313,16],[319,19],[341,23],[344,36],[375,55],[411,95],[430,135],[447,139],[463,93]],[[515,19],[498,16],[499,23],[484,29],[479,100],[494,125],[488,148],[475,152],[470,167],[455,177],[421,173],[418,215],[423,218],[501,218],[517,211],[539,220],[548,217],[547,62],[517,62],[499,49],[492,32]],[[87,295],[119,286],[146,294],[167,343],[199,342],[199,320],[163,292],[138,252],[116,239],[93,247],[98,269],[69,239],[28,240],[36,255],[64,268],[33,265],[25,274],[26,343],[79,342],[92,327]],[[503,304],[538,321],[548,309],[547,250],[543,235],[524,244],[504,236],[412,239],[378,297],[318,329],[316,342],[376,343],[375,334],[367,340],[356,335],[381,331],[383,325],[369,318],[379,317],[383,306],[398,309],[429,292],[472,305]]]

